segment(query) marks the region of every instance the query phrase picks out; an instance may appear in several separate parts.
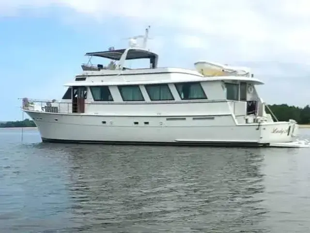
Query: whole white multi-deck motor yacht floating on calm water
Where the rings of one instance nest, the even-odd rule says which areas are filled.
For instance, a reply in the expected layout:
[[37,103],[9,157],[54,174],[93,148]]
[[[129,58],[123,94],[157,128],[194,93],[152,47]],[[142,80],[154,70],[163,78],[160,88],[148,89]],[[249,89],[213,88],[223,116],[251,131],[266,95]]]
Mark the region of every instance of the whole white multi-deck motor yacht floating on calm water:
[[[62,100],[23,99],[44,142],[306,147],[296,121],[274,121],[247,67],[197,62],[157,67],[158,55],[134,39],[127,49],[90,52],[109,66],[83,64]],[[149,67],[124,67],[148,59]],[[30,104],[31,103],[31,104]]]

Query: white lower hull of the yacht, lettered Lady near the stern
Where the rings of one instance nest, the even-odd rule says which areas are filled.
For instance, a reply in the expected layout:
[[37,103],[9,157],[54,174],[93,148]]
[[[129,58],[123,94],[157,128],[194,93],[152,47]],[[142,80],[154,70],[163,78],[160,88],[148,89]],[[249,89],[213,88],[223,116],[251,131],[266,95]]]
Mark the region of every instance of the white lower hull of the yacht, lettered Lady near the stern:
[[288,133],[293,126],[289,122],[236,125],[232,115],[98,116],[24,111],[36,123],[44,142],[261,147],[294,140],[292,130]]

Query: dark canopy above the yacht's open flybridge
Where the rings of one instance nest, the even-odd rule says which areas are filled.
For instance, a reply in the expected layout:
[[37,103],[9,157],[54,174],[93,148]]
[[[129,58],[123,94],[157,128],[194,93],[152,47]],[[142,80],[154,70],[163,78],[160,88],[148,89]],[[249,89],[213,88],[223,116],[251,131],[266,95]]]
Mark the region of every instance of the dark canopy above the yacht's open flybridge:
[[[112,60],[120,60],[125,49],[122,50],[108,50],[102,52],[87,52],[85,55],[87,56],[97,56],[108,58]],[[143,49],[130,49],[128,50],[126,60],[133,60],[133,59],[143,59],[143,58],[154,58],[158,55],[154,52],[143,50]]]

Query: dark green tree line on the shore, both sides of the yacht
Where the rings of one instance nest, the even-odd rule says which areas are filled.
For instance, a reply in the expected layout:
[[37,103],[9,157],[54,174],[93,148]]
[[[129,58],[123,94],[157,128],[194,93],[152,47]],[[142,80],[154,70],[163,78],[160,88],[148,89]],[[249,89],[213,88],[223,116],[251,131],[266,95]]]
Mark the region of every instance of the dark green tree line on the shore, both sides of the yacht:
[[[310,106],[307,105],[304,108],[289,106],[287,104],[272,104],[268,105],[272,113],[277,117],[279,121],[288,121],[294,119],[301,125],[310,124]],[[268,108],[266,112],[270,113]],[[276,120],[276,119],[274,119]],[[8,121],[0,123],[0,128],[19,128],[19,127],[36,127],[33,120],[25,119],[21,121]]]

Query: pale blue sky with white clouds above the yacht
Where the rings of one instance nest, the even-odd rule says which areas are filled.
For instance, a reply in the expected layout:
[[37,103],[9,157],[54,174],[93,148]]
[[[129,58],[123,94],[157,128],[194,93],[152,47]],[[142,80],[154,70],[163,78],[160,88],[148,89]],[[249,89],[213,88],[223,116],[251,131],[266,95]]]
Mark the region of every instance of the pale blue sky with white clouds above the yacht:
[[310,0],[0,0],[0,121],[21,100],[61,99],[86,52],[127,47],[151,25],[161,67],[251,67],[268,104],[310,102]]

